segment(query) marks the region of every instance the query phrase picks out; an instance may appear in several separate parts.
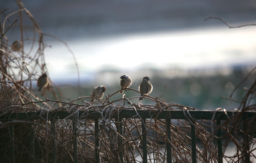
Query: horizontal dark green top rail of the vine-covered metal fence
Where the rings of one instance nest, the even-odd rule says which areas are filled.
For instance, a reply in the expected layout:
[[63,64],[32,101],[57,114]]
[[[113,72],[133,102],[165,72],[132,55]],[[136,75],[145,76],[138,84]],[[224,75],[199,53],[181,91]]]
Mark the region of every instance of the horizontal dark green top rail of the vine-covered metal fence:
[[[137,114],[138,113],[138,114]],[[157,119],[182,119],[186,120],[188,115],[195,120],[227,120],[230,116],[241,113],[241,111],[210,111],[210,110],[119,110],[119,115],[114,115],[112,118],[157,118]],[[247,115],[245,114],[247,113]],[[47,117],[48,115],[48,117]],[[89,111],[79,111],[79,120],[82,117],[85,119],[96,119],[101,118],[101,113],[97,110]],[[104,113],[103,113],[104,115]],[[214,116],[215,115],[215,116]],[[250,118],[256,115],[256,111],[243,112],[241,115],[241,120]],[[39,118],[44,119],[65,119],[68,116],[69,119],[73,119],[73,114],[67,111],[55,112],[22,112],[22,113],[12,113],[9,115],[0,116],[0,120],[36,120]],[[214,116],[214,118],[213,118]]]

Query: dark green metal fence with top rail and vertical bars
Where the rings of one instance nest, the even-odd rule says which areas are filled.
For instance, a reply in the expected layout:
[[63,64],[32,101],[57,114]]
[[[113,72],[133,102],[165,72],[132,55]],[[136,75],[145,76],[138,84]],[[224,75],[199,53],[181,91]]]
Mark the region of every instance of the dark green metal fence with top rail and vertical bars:
[[[193,120],[216,120],[217,125],[221,125],[221,120],[227,120],[230,116],[235,115],[235,114],[240,114],[241,115],[241,120],[246,120],[251,117],[256,116],[256,111],[248,111],[248,112],[240,112],[240,111],[199,111],[199,110],[158,110],[151,112],[150,110],[122,110],[119,112],[119,115],[114,116],[116,121],[122,121],[122,119],[127,119],[127,118],[138,118],[142,119],[142,132],[146,130],[146,119],[149,118],[154,118],[154,119],[165,119],[166,120],[166,131],[168,134],[168,139],[171,139],[171,120],[172,119],[181,119],[181,120],[188,120],[190,125],[191,125],[191,150],[192,150],[192,163],[196,163],[196,134],[195,134],[195,125]],[[17,120],[26,120],[26,121],[32,121],[32,120],[37,120],[38,117],[40,116],[41,118],[51,120],[51,125],[52,125],[52,137],[51,139],[55,139],[55,121],[56,120],[62,120],[65,118],[69,118],[73,121],[73,134],[75,140],[73,141],[73,160],[74,163],[78,162],[77,159],[77,139],[76,139],[76,134],[77,134],[77,126],[76,126],[76,121],[82,120],[82,116],[87,115],[87,119],[90,120],[95,120],[95,162],[100,163],[100,156],[99,156],[99,138],[97,134],[99,133],[99,119],[101,118],[101,113],[96,110],[89,110],[89,111],[79,111],[78,112],[78,117],[73,117],[71,113],[67,111],[58,111],[54,114],[49,114],[48,112],[23,112],[23,113],[13,113],[9,114],[6,116],[0,116],[0,121],[6,121],[8,120],[10,124],[15,123]],[[246,121],[245,121],[246,123]],[[121,124],[121,123],[120,123]],[[246,124],[244,124],[246,127]],[[118,126],[118,132],[119,134],[122,135],[122,125]],[[246,129],[246,128],[245,128]],[[9,131],[10,131],[10,138],[12,140],[12,143],[14,142],[14,129],[13,125],[9,126]],[[222,140],[221,140],[221,130],[219,129],[217,132],[218,140],[217,140],[217,148],[218,148],[218,157],[219,157],[219,162],[222,163]],[[248,135],[245,135],[245,138],[248,137]],[[30,135],[30,141],[31,141],[31,155],[30,155],[30,161],[31,163],[35,162],[35,144],[33,143],[33,133]],[[248,140],[248,139],[247,139]],[[54,141],[53,141],[54,142]],[[122,138],[120,137],[118,139],[118,144],[122,144]],[[169,141],[170,142],[170,141]],[[52,143],[51,145],[51,153],[53,156],[53,162],[56,162],[56,148],[55,144]],[[142,150],[143,150],[143,163],[148,162],[147,158],[147,135],[143,134],[142,136]],[[249,143],[248,146],[245,146],[244,148],[248,149],[249,148]],[[166,142],[166,149],[167,149],[167,162],[172,163],[172,147],[171,144]],[[15,162],[15,151],[14,151],[14,144],[11,144],[10,148],[10,159],[11,162]],[[246,151],[246,150],[245,150]],[[122,151],[119,152],[119,157],[121,158],[120,162],[123,163],[123,156],[122,156]],[[244,153],[244,160],[246,163],[250,163],[250,154],[249,153]]]

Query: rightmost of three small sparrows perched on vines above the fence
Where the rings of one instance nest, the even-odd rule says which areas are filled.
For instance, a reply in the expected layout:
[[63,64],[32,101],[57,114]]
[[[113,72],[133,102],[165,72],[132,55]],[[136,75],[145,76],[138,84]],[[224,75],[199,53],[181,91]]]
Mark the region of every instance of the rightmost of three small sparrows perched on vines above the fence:
[[[143,77],[142,82],[138,86],[138,91],[139,93],[141,93],[140,96],[148,95],[149,93],[152,92],[153,86],[149,81],[150,81],[149,77]],[[138,101],[141,101],[141,100],[143,100],[143,97],[140,97],[138,99]]]

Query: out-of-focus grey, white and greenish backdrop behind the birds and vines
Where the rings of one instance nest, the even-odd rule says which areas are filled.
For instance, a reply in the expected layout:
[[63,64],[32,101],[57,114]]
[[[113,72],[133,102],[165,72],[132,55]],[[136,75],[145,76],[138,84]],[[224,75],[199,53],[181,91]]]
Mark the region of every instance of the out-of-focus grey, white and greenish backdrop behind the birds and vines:
[[[111,95],[120,89],[119,77],[126,74],[133,79],[134,89],[144,76],[150,77],[154,86],[150,96],[199,110],[230,110],[239,103],[223,97],[229,98],[256,66],[256,26],[229,29],[217,19],[204,21],[215,16],[231,26],[255,24],[255,0],[22,2],[43,33],[56,37],[43,38],[45,60],[48,75],[60,86],[64,101],[90,96],[92,88],[99,85],[107,87],[106,96]],[[14,0],[1,0],[0,8],[9,13],[19,10]],[[19,19],[19,14],[9,19]],[[23,24],[32,26],[25,16]],[[10,43],[20,39],[19,29],[6,36]],[[31,42],[24,46],[28,49]],[[249,87],[255,78],[254,72],[242,87]],[[36,81],[34,86],[40,94]],[[240,88],[232,98],[242,100],[245,93]],[[125,94],[139,96],[133,91]],[[121,95],[111,100],[117,98]],[[138,99],[132,102],[138,103]]]

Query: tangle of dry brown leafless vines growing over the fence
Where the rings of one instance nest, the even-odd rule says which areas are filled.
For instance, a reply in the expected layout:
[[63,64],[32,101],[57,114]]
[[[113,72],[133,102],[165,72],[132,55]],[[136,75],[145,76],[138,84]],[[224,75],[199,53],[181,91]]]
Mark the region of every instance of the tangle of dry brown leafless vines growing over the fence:
[[[148,162],[167,162],[168,142],[172,147],[174,163],[191,163],[191,126],[195,126],[197,162],[218,163],[216,133],[219,129],[223,133],[221,137],[223,160],[243,162],[245,146],[250,147],[248,153],[251,160],[256,160],[256,118],[241,120],[243,112],[256,110],[256,104],[250,102],[256,95],[256,81],[250,88],[245,89],[246,95],[239,108],[241,114],[230,116],[227,120],[221,121],[219,126],[216,125],[214,116],[212,120],[194,120],[186,114],[186,120],[172,120],[171,140],[168,139],[166,120],[153,117],[153,114],[163,110],[183,110],[184,113],[188,113],[188,110],[196,110],[195,108],[147,95],[144,98],[153,101],[154,105],[133,104],[130,101],[139,99],[140,96],[121,97],[120,95],[120,99],[111,101],[110,97],[119,94],[121,90],[108,95],[102,101],[87,102],[91,100],[90,96],[61,101],[61,97],[57,96],[61,92],[50,78],[48,85],[42,87],[42,95],[46,97],[42,100],[37,95],[39,92],[32,90],[32,82],[35,82],[41,74],[47,74],[44,34],[26,7],[21,2],[17,2],[17,5],[20,9],[15,12],[0,11],[0,162],[10,162],[10,152],[14,150],[15,162],[21,163],[28,162],[28,158],[44,163],[53,162],[55,158],[56,162],[61,163],[70,163],[75,159],[78,162],[94,163],[97,159],[95,151],[98,150],[99,159],[104,163],[119,163],[120,157],[125,163],[139,163],[143,158],[142,137],[147,134]],[[18,21],[10,19],[12,15],[17,14],[20,14],[20,18],[22,14],[23,19],[30,19],[33,26],[22,24],[22,19]],[[9,32],[17,29],[21,33],[21,37],[16,38],[19,41],[9,43]],[[25,35],[33,37],[24,38]],[[24,50],[24,45],[31,46],[28,52]],[[255,68],[248,77],[252,73],[255,73]],[[241,89],[241,86],[242,84],[236,87],[236,90]],[[126,89],[138,92],[132,88]],[[47,96],[51,96],[51,99]],[[123,110],[135,110],[137,114],[126,119],[118,118]],[[152,117],[142,121],[137,110],[150,111]],[[215,112],[218,110],[222,109],[218,108]],[[90,111],[95,111],[98,117],[93,117],[93,114],[89,114]],[[12,117],[18,113],[24,113],[24,117],[20,119]],[[146,125],[144,132],[143,125]],[[243,125],[244,127],[241,127]],[[120,126],[122,126],[122,134],[118,132]],[[248,136],[243,137],[243,135]],[[99,140],[98,147],[95,146],[95,138]],[[232,155],[225,153],[229,144],[236,149]],[[77,148],[77,158],[73,154],[75,148]],[[121,151],[123,152],[120,154]]]

